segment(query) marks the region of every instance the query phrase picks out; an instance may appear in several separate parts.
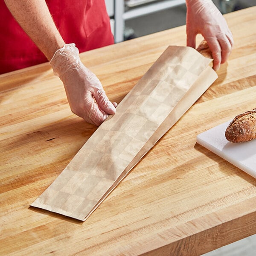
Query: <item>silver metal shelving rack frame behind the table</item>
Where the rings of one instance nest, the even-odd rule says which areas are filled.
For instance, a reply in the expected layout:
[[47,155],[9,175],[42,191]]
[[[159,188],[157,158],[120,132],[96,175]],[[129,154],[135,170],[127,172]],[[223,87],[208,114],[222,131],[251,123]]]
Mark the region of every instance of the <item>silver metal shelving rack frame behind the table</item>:
[[125,21],[161,10],[176,7],[185,0],[114,0],[115,42],[124,40]]

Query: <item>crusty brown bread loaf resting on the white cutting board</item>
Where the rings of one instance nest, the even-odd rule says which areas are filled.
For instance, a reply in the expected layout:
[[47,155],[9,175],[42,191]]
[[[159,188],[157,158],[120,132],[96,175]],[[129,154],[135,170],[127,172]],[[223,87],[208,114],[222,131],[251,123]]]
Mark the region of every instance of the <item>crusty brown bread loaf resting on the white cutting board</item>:
[[236,116],[228,125],[225,137],[237,143],[256,139],[256,108]]

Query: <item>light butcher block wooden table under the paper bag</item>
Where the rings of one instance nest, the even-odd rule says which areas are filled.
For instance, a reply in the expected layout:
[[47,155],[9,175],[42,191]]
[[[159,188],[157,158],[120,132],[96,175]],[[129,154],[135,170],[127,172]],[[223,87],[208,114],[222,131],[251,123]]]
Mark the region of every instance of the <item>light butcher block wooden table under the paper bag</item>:
[[[201,255],[255,234],[256,179],[196,143],[256,108],[255,13],[225,15],[235,44],[218,79],[84,222],[29,205],[97,127],[70,111],[48,63],[1,75],[0,255]],[[186,45],[185,26],[81,60],[119,103],[168,45]]]

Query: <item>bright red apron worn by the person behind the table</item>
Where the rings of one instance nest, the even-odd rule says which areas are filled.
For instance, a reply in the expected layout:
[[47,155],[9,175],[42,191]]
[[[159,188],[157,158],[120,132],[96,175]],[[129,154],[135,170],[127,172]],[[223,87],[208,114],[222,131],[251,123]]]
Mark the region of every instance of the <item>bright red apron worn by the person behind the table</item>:
[[[113,44],[105,0],[46,0],[66,44],[79,52]],[[47,58],[0,0],[0,74],[46,62]]]

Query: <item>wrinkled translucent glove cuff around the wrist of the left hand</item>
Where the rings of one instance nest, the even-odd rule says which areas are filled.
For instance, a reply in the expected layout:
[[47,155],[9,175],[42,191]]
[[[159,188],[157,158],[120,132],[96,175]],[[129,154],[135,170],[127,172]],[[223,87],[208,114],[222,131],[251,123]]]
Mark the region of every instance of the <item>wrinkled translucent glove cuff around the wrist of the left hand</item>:
[[81,61],[76,44],[65,44],[54,53],[49,63],[54,75],[59,77],[70,70],[79,68]]

